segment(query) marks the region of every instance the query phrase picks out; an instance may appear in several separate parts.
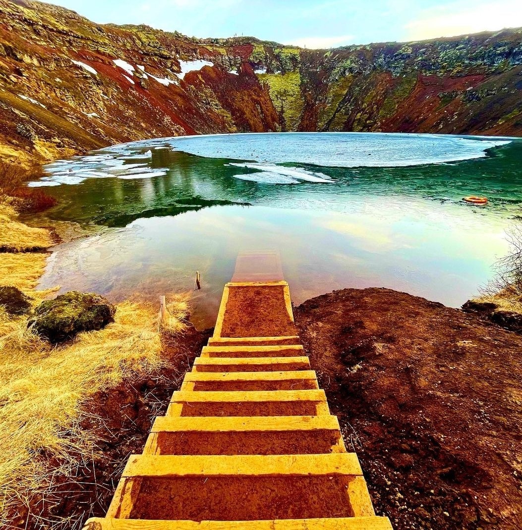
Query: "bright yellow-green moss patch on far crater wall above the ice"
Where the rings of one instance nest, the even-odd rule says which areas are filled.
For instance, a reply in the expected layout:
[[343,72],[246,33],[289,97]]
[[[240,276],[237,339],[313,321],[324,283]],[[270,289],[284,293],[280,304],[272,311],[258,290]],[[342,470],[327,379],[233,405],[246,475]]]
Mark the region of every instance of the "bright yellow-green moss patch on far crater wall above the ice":
[[297,130],[305,107],[299,70],[285,74],[259,74],[259,80],[268,85],[270,98],[282,119],[281,129]]

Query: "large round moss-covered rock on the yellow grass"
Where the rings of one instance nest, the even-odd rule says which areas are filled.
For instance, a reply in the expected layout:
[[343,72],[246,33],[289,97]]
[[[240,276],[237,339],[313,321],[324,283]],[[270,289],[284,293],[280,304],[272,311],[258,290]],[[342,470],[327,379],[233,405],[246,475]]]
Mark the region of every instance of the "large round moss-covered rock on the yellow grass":
[[114,322],[116,307],[94,293],[69,291],[42,302],[28,321],[34,331],[50,342],[73,338],[80,331],[100,330]]

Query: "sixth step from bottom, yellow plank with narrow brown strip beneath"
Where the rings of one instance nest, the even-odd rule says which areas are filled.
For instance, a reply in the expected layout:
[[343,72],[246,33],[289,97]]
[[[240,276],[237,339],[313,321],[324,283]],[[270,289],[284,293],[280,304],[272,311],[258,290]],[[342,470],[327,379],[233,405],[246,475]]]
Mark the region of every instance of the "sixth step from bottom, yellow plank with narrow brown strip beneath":
[[196,357],[195,372],[281,372],[309,370],[308,357]]

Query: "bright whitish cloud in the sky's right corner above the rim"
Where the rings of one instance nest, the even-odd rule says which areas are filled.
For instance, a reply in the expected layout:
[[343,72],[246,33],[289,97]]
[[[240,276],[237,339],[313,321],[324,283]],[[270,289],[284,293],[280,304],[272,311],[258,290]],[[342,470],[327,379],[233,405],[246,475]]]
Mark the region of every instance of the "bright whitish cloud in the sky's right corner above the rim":
[[432,7],[405,26],[407,40],[453,37],[522,26],[522,2],[452,2]]

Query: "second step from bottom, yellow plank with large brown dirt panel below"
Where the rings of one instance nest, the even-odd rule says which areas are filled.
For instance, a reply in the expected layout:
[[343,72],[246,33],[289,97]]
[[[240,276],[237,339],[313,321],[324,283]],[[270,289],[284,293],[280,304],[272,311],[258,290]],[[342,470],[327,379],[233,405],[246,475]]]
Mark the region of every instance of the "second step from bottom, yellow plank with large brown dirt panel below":
[[372,516],[354,453],[132,455],[109,516],[258,520]]

